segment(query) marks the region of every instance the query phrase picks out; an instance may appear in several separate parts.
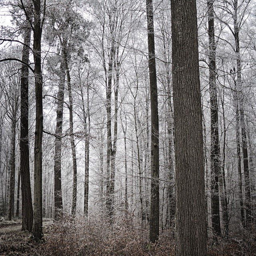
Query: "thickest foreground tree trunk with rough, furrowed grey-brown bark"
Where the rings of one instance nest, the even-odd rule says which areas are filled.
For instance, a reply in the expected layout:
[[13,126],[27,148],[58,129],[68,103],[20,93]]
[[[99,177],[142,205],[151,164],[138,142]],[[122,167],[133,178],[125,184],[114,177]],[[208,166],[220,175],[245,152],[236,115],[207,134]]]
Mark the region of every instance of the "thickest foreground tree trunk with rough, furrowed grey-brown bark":
[[[176,256],[207,254],[196,0],[173,0]],[[192,221],[193,220],[193,221]]]

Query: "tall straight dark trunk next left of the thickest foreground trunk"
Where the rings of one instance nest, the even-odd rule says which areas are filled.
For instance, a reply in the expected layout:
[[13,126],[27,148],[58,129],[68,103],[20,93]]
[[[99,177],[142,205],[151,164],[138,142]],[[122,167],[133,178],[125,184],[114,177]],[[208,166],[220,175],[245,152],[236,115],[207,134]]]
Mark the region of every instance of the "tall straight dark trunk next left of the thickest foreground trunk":
[[148,24],[148,67],[150,80],[151,106],[151,203],[150,203],[150,242],[159,236],[159,124],[158,94],[156,84],[156,58],[154,40],[154,20],[152,0],[146,0]]

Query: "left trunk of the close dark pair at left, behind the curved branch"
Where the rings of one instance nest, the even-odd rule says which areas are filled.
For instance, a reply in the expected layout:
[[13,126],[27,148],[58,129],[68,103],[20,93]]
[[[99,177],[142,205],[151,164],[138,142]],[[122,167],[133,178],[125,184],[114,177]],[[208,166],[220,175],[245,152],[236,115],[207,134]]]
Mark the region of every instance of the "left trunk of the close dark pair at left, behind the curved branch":
[[[24,23],[22,61],[29,62],[31,27],[28,17]],[[20,78],[20,178],[22,200],[22,230],[32,231],[33,206],[30,186],[29,137],[28,137],[28,66],[22,64]]]

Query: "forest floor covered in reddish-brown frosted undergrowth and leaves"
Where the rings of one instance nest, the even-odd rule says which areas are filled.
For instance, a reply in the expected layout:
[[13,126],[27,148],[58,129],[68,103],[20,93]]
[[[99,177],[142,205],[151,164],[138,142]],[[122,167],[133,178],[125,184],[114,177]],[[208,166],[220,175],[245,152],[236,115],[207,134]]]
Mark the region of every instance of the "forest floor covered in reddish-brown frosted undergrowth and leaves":
[[[0,222],[0,256],[174,256],[174,232],[160,232],[159,243],[150,245],[146,225],[66,218],[44,220],[44,238],[31,239],[21,230],[21,220]],[[256,228],[240,230],[227,238],[208,242],[208,256],[256,256]]]

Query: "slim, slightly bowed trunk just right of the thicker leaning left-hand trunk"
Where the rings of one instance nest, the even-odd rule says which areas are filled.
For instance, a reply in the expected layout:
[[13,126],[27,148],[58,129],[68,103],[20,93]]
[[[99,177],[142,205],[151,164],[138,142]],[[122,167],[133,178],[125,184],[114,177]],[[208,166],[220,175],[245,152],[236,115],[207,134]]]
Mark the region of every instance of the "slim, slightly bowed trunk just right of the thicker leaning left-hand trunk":
[[64,50],[64,61],[67,73],[68,82],[68,98],[69,98],[69,132],[70,132],[70,144],[72,150],[72,162],[73,162],[73,192],[72,192],[72,215],[76,215],[76,197],[77,197],[77,164],[76,164],[76,146],[74,139],[74,123],[73,123],[73,98],[71,91],[71,78],[68,68],[68,55]]

